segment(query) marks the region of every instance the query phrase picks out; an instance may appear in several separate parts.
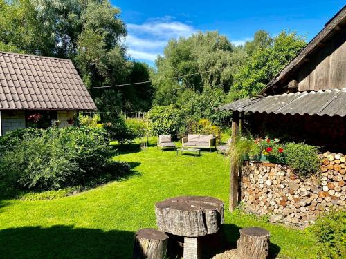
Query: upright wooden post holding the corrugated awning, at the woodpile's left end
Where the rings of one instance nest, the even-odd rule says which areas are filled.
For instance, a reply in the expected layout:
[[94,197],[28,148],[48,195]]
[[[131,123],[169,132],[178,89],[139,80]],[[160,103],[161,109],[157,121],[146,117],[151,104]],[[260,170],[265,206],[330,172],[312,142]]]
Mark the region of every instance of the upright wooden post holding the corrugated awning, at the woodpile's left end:
[[[234,111],[232,116],[232,144],[235,144],[239,137],[239,112]],[[237,166],[230,162],[230,211],[233,211],[238,204],[238,173]]]

